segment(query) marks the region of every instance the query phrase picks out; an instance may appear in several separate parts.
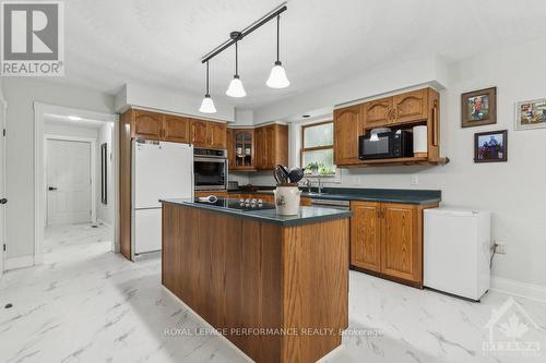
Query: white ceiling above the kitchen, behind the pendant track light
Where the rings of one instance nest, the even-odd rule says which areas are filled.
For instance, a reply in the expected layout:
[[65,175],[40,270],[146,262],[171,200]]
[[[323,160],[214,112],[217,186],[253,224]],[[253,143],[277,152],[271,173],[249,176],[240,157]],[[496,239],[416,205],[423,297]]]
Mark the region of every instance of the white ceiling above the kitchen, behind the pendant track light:
[[[136,83],[201,96],[201,57],[278,0],[71,0],[66,3],[66,77],[115,94]],[[211,61],[211,95],[257,108],[424,55],[448,62],[544,37],[544,0],[290,0],[281,17],[281,60],[292,85],[265,86],[275,60],[271,22],[239,45],[248,96],[224,95],[234,52]],[[532,51],[522,57],[532,57]]]

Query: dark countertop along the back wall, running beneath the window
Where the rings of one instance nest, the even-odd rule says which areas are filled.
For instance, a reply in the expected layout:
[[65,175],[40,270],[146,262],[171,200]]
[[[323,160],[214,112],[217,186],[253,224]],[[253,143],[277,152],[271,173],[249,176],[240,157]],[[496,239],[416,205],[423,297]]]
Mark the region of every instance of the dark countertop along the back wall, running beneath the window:
[[[229,191],[229,193],[272,194],[273,189],[274,186],[258,186],[256,192]],[[306,189],[302,189],[304,192],[301,196],[313,199],[365,201],[418,205],[439,203],[441,201],[441,191],[431,190],[324,187],[322,194],[308,193],[305,190]],[[316,191],[316,189],[312,190]]]

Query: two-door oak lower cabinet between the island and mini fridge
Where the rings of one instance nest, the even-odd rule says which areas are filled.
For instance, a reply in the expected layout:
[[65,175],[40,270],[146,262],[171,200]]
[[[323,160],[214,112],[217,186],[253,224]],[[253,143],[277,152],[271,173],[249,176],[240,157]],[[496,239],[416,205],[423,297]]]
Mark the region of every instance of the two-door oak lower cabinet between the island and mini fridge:
[[423,210],[437,207],[351,202],[351,265],[423,287]]

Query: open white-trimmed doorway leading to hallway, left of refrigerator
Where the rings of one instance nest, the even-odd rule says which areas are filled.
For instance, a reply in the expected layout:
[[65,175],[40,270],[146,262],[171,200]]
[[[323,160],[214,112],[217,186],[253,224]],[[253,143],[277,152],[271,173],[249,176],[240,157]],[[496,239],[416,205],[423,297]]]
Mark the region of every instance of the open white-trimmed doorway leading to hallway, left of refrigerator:
[[76,244],[118,252],[118,116],[39,102],[34,111],[34,265]]

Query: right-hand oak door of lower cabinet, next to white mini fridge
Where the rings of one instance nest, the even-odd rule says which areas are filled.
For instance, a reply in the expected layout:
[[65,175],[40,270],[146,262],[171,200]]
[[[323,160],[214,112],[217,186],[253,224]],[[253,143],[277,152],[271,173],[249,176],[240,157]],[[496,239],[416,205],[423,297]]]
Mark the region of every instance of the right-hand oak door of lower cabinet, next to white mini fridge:
[[423,245],[417,214],[414,205],[381,205],[381,273],[422,282]]

